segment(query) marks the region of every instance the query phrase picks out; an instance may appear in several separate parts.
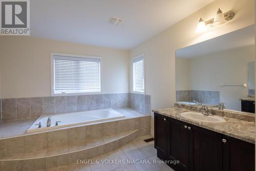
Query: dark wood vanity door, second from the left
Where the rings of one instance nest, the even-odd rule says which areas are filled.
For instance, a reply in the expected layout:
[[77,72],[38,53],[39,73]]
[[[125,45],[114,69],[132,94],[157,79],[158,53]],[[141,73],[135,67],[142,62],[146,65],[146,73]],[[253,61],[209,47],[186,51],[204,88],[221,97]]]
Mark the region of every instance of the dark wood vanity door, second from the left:
[[176,119],[168,121],[168,157],[177,160],[179,164],[169,164],[175,171],[189,170],[189,130],[188,124]]

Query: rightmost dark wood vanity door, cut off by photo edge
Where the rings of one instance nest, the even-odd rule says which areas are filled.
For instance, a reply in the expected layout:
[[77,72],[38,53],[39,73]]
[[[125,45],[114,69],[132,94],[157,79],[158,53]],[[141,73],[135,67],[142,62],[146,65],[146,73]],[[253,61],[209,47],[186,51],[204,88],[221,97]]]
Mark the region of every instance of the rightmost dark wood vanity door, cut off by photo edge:
[[224,136],[223,167],[224,171],[254,171],[255,145],[239,139]]

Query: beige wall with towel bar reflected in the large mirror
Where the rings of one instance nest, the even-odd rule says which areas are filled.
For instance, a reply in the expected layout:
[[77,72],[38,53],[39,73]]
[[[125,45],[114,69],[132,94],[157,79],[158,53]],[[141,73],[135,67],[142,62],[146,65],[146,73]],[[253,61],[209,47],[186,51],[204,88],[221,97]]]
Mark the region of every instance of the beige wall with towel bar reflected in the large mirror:
[[254,46],[200,56],[190,61],[191,90],[219,91],[220,101],[225,102],[226,109],[241,111],[239,99],[247,97],[248,88],[221,88],[221,84],[248,85],[248,63],[254,61]]

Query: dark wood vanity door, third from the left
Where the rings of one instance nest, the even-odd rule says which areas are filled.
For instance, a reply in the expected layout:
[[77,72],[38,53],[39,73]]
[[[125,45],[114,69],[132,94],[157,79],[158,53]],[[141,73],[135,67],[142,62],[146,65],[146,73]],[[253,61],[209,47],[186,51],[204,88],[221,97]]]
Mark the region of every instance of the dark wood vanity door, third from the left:
[[193,126],[194,171],[222,171],[222,135],[213,131]]

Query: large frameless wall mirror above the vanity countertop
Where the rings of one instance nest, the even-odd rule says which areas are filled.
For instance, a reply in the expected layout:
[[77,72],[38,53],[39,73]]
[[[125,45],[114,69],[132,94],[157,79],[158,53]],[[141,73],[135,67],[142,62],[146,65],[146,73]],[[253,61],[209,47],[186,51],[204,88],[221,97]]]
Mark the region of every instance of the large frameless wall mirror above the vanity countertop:
[[254,26],[176,51],[176,101],[255,113]]

